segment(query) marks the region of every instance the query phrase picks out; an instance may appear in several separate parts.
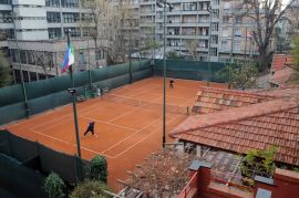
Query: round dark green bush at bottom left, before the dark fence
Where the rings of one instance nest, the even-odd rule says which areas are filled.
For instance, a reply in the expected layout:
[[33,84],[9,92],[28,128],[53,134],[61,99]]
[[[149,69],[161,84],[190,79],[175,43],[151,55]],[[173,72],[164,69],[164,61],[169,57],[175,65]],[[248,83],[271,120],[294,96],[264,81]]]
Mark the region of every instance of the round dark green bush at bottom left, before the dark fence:
[[55,173],[51,173],[44,179],[43,188],[50,198],[62,198],[65,196],[65,184]]

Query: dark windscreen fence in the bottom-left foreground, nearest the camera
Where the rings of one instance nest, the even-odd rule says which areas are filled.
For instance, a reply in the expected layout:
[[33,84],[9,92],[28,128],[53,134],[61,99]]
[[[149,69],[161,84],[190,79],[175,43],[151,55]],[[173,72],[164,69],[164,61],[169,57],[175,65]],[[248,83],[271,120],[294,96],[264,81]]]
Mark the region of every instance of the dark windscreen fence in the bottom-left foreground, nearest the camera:
[[87,166],[87,161],[76,156],[0,131],[0,186],[23,191],[23,197],[43,197],[43,179],[51,171],[69,184],[76,184],[79,177],[86,176]]

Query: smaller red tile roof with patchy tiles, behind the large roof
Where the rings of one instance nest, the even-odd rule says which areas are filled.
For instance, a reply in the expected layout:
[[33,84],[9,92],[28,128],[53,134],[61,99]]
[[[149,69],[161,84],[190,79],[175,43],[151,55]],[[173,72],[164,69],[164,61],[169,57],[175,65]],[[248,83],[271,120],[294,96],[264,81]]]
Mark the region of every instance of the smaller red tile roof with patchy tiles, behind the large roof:
[[193,112],[198,114],[212,113],[261,103],[271,98],[274,98],[274,96],[203,86],[199,87],[197,93]]

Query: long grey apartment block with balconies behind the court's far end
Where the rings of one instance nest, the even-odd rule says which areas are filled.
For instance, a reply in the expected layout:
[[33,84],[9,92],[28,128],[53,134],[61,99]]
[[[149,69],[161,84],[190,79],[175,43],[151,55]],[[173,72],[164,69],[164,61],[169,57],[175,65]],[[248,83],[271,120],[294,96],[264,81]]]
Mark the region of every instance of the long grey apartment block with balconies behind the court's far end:
[[[163,8],[157,0],[141,0],[141,37],[163,43]],[[199,61],[230,62],[257,54],[250,34],[254,22],[241,15],[238,0],[167,0],[167,50]],[[196,51],[196,53],[194,53]],[[192,55],[193,54],[193,55]],[[195,55],[194,55],[195,54]]]

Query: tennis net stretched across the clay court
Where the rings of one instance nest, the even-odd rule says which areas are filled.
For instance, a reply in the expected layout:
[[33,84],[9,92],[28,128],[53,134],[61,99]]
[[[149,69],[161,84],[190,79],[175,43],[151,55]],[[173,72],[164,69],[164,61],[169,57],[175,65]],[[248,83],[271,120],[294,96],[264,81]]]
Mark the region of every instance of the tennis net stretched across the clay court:
[[[105,94],[103,96],[103,100],[106,100],[106,101],[113,102],[113,103],[121,103],[121,104],[126,104],[126,105],[132,105],[132,106],[140,106],[143,108],[150,108],[150,110],[154,110],[154,111],[162,111],[163,110],[163,104],[161,104],[161,103],[154,103],[154,102],[143,101],[140,98],[133,98],[133,97],[121,96],[121,95],[115,95],[115,94]],[[173,113],[173,114],[188,115],[189,107],[166,104],[166,112]]]

